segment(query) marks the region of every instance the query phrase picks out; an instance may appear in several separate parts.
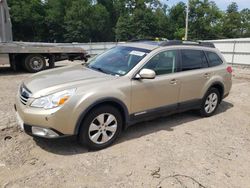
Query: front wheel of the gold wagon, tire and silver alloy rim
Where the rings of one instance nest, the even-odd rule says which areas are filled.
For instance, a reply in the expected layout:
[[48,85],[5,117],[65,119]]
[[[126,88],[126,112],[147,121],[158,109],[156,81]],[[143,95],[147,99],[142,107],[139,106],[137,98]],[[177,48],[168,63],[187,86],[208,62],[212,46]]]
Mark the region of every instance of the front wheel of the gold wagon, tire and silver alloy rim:
[[100,106],[91,110],[84,118],[78,141],[91,150],[100,150],[110,146],[121,130],[122,116],[119,110],[113,106]]

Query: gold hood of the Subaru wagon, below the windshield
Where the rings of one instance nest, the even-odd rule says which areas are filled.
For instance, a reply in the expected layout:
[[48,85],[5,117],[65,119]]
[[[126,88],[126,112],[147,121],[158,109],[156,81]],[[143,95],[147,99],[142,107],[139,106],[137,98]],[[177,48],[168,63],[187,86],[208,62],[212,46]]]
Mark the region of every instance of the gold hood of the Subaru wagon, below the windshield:
[[88,69],[83,65],[73,65],[34,74],[24,81],[24,85],[36,98],[82,84],[88,85],[112,79],[115,79],[115,76]]

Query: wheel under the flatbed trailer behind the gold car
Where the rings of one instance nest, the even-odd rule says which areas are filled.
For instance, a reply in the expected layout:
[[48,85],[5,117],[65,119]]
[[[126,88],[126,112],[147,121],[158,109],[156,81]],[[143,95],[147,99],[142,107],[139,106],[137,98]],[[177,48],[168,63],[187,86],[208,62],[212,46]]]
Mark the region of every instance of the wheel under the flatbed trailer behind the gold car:
[[46,60],[39,54],[28,55],[24,60],[24,67],[28,72],[39,72],[46,68]]

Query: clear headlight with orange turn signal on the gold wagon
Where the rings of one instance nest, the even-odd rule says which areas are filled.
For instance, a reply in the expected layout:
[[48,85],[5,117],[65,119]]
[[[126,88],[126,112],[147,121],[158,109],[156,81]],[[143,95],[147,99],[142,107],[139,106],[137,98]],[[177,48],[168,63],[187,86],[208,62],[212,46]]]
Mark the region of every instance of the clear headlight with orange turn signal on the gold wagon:
[[74,95],[75,91],[76,89],[69,89],[35,99],[31,106],[44,109],[62,106],[72,95]]

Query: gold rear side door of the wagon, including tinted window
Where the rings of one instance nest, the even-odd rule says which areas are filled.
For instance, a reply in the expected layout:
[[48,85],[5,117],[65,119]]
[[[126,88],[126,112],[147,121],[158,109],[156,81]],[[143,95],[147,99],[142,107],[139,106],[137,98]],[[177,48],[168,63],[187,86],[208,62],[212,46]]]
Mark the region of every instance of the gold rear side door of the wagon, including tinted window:
[[201,98],[202,88],[211,76],[204,51],[182,49],[181,73],[179,103],[189,106]]

